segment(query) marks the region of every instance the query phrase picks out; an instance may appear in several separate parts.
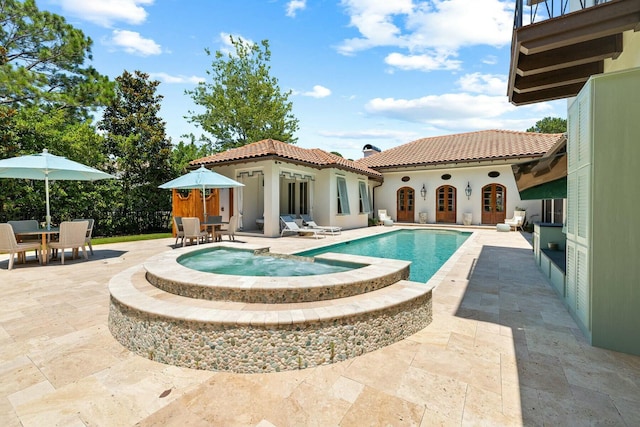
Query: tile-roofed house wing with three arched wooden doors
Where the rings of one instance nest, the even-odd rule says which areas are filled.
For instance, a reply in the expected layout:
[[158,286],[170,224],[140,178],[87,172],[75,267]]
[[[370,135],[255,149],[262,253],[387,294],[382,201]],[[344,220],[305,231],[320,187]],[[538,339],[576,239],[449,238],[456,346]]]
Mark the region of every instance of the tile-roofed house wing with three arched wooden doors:
[[418,139],[356,163],[384,176],[374,187],[374,212],[386,209],[397,222],[493,225],[512,218],[516,207],[539,217],[539,201],[521,200],[512,165],[538,159],[563,140],[563,134],[486,130]]

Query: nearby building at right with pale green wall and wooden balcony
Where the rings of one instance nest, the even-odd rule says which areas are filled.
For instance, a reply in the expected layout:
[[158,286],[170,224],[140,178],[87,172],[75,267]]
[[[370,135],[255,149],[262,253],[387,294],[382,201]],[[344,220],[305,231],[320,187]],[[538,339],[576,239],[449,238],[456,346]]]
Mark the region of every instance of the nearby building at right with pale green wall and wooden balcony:
[[545,8],[555,15],[534,13],[551,3],[516,0],[508,95],[515,105],[567,99],[566,274],[556,290],[592,345],[640,355],[640,228],[630,217],[640,208],[640,1],[564,0]]

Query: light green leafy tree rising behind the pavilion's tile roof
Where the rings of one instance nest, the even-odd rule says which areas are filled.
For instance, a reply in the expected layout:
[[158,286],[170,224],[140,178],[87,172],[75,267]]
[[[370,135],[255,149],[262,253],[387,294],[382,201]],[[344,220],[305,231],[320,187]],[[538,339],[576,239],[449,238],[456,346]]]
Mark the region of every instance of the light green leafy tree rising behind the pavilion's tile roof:
[[[207,71],[213,81],[186,91],[205,109],[201,114],[190,111],[187,118],[213,136],[218,151],[267,138],[294,144],[298,120],[288,100],[291,91],[282,93],[278,80],[269,74],[269,42],[230,40],[235,53],[215,52],[212,70]],[[211,55],[208,49],[205,52]]]

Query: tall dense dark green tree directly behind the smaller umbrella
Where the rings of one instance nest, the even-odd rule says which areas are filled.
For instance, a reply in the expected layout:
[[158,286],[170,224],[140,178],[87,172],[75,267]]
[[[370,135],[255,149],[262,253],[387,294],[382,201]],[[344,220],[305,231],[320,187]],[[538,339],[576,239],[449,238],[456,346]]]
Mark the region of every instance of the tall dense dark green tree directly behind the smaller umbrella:
[[116,96],[107,105],[98,128],[105,132],[106,152],[114,159],[122,185],[125,211],[170,210],[171,196],[158,185],[172,178],[171,140],[158,116],[160,82],[140,71],[116,78]]

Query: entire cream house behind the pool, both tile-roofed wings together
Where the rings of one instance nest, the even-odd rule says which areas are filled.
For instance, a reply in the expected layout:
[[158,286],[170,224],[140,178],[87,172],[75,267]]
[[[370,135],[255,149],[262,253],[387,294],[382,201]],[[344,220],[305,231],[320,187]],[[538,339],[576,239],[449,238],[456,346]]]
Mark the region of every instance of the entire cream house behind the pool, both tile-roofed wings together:
[[[529,218],[538,201],[522,201],[511,167],[540,158],[563,134],[489,130],[424,138],[365,158],[347,160],[320,149],[263,140],[191,162],[245,186],[219,190],[224,219],[244,231],[280,235],[281,215],[309,215],[318,224],[366,227],[378,209],[396,222],[504,222],[516,207]],[[215,195],[214,195],[215,196]]]

